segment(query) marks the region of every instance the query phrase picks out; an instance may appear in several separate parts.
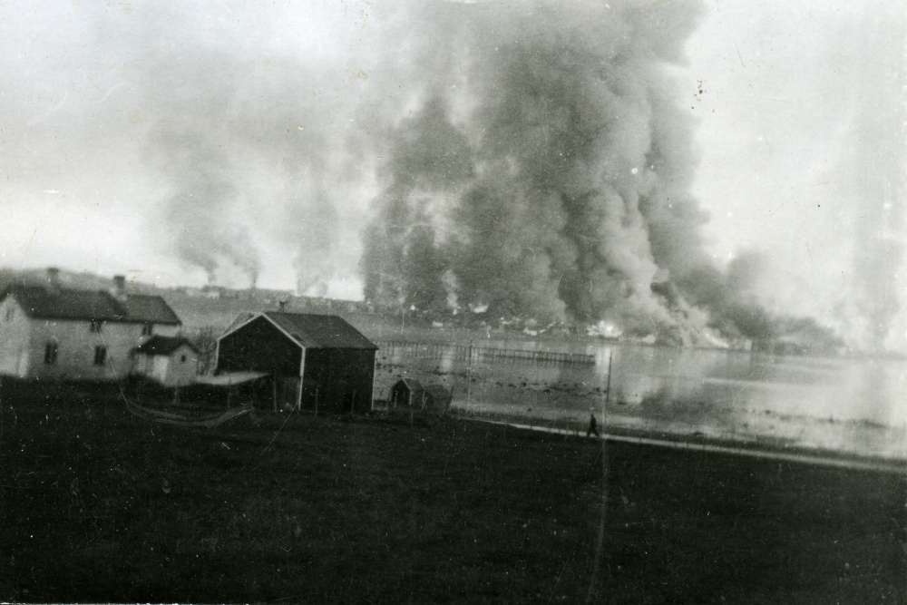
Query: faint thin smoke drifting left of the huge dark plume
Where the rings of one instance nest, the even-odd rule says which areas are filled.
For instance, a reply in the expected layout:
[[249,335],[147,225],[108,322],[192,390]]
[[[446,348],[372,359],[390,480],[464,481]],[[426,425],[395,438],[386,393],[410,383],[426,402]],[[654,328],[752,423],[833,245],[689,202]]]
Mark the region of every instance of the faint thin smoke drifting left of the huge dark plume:
[[[360,102],[338,92],[346,66],[201,43],[174,53],[171,39],[223,31],[180,16],[148,22],[142,45],[158,69],[143,74],[147,81],[133,80],[154,92],[146,93],[158,118],[145,155],[166,191],[164,237],[210,283],[253,287],[267,262],[262,250],[277,241],[295,269],[297,292],[324,294],[336,266],[354,263],[358,249],[341,241],[338,209],[356,199],[371,168],[363,157],[372,150],[363,142],[368,132],[349,120]],[[311,35],[312,26],[301,23],[299,35]],[[163,27],[186,31],[161,34]]]

